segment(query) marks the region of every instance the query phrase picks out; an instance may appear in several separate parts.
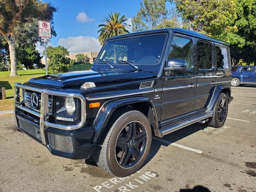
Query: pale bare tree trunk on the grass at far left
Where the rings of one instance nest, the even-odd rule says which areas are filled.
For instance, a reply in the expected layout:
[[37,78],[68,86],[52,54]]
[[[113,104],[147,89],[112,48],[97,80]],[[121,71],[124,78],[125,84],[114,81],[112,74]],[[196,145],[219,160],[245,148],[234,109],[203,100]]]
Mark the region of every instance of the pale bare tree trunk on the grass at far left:
[[16,47],[15,37],[11,34],[11,39],[7,40],[9,45],[10,60],[11,60],[11,74],[10,76],[18,76],[17,74],[17,58],[16,58]]

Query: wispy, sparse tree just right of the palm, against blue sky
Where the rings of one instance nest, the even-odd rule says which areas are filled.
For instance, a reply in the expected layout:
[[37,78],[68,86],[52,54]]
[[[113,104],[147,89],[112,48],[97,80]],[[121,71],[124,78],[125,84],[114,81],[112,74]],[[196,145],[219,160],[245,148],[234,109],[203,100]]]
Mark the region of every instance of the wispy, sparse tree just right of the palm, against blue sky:
[[143,0],[140,2],[140,10],[132,18],[132,31],[145,31],[156,28],[166,19],[168,10],[165,0]]

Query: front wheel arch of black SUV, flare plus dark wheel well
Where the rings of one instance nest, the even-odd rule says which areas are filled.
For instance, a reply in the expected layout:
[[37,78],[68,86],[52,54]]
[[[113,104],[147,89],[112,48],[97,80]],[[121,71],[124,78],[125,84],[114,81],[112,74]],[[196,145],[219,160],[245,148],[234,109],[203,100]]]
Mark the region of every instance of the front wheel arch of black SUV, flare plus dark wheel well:
[[94,136],[92,142],[98,142],[110,121],[111,116],[118,113],[124,108],[138,110],[142,112],[149,120],[151,127],[154,130],[158,129],[158,119],[154,104],[150,98],[139,96],[122,99],[113,99],[105,102],[98,111],[98,114],[93,122]]

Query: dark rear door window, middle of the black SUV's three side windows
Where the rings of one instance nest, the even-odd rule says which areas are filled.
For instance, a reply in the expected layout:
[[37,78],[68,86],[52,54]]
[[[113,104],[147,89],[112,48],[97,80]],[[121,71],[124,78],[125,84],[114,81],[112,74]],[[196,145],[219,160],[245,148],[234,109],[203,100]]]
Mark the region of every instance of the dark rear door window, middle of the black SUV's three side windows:
[[198,69],[212,68],[212,44],[198,41],[196,43]]

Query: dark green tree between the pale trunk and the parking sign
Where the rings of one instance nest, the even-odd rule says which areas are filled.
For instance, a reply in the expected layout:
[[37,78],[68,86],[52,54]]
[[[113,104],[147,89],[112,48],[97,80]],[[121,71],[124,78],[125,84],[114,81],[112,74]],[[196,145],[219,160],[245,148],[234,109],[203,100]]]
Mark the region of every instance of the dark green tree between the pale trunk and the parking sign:
[[35,44],[26,44],[23,49],[18,50],[18,63],[24,64],[27,69],[33,68],[34,64],[40,66],[41,59]]

